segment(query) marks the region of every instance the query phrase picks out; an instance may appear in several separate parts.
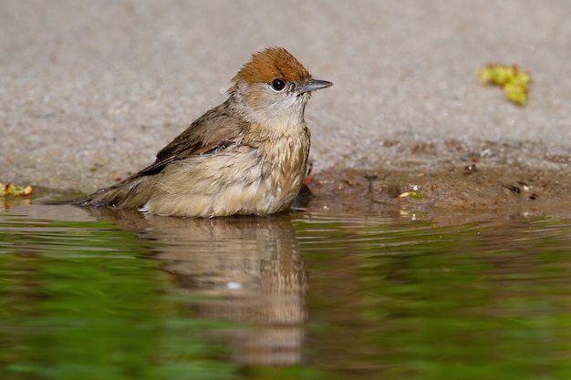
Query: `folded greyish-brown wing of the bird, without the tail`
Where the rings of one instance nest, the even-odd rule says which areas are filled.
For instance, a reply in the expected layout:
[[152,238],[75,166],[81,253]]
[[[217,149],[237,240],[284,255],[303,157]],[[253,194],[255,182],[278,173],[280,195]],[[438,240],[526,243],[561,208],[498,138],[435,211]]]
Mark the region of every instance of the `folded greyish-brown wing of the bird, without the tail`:
[[135,176],[161,172],[172,161],[209,152],[217,147],[239,143],[248,123],[227,111],[225,105],[211,109],[196,119],[169,145],[157,153],[157,159]]

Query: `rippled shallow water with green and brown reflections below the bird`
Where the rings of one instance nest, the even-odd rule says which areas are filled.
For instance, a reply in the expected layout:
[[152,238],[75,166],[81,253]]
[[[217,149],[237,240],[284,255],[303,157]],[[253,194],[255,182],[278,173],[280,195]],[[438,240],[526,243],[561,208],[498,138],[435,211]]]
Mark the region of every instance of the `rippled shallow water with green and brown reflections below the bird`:
[[6,203],[3,379],[571,378],[571,217]]

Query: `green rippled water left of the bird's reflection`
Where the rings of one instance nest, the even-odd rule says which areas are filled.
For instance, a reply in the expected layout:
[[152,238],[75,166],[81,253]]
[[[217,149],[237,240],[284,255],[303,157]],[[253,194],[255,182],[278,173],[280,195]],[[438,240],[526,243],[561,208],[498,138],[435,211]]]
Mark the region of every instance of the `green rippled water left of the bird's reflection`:
[[148,241],[108,221],[0,220],[3,379],[226,379],[205,325],[161,296]]

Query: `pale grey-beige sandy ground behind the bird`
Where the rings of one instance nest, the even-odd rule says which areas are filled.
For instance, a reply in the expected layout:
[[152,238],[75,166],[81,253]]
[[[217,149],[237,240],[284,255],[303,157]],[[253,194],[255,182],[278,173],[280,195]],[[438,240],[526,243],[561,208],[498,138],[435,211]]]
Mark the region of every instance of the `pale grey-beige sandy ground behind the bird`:
[[[452,170],[453,185],[476,178],[462,174],[471,161],[494,170],[471,182],[483,193],[523,177],[566,190],[569,15],[568,0],[4,0],[0,182],[109,186],[221,103],[252,53],[285,46],[335,83],[306,109],[317,192],[375,173],[395,193],[385,173],[399,171],[393,179]],[[487,63],[531,72],[524,107],[479,85]]]

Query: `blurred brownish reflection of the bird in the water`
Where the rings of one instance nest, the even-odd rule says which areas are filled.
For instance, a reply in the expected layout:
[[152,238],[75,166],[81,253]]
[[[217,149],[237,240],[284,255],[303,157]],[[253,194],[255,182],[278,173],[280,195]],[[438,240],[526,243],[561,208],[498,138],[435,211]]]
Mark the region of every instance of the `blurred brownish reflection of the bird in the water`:
[[301,362],[307,278],[288,215],[203,220],[89,212],[157,242],[153,250],[175,292],[213,296],[193,302],[195,314],[254,325],[231,333],[238,363]]

